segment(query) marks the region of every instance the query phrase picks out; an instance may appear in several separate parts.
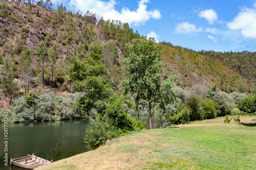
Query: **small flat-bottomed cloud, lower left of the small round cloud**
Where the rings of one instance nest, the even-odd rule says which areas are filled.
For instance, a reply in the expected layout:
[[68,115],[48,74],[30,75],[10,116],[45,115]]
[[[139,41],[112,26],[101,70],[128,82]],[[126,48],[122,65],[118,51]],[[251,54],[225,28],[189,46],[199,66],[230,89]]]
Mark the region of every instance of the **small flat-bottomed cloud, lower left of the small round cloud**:
[[188,22],[181,22],[178,23],[174,32],[177,34],[184,33],[184,34],[196,34],[197,32],[202,32],[203,29],[197,28],[197,26],[193,25],[192,23]]

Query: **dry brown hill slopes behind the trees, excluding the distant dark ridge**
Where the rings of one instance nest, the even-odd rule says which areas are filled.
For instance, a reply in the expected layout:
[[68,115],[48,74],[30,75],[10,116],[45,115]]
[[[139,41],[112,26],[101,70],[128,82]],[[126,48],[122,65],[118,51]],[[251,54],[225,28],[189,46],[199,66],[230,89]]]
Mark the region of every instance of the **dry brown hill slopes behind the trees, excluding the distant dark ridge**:
[[[54,11],[25,3],[8,2],[3,5],[1,2],[0,5],[0,78],[9,73],[14,74],[22,85],[17,95],[25,95],[28,87],[39,94],[54,92],[65,95],[72,92],[71,84],[67,81],[67,66],[70,64],[68,58],[70,55],[84,58],[88,53],[88,46],[94,43],[103,46],[102,62],[111,74],[113,89],[118,91],[120,81],[125,78],[121,62],[125,43],[133,38],[141,38],[127,23],[104,21],[90,12],[82,16],[78,12],[67,12],[63,6]],[[45,63],[46,86],[42,85],[42,70],[36,61],[37,47],[43,41],[48,48],[56,44],[59,53],[54,65],[50,61]],[[163,52],[162,79],[174,72],[179,75],[181,86],[186,89],[193,84],[209,87],[217,85],[223,90],[228,90],[229,84],[237,90],[242,84],[248,89],[243,77],[219,62],[196,52],[158,45]],[[32,58],[29,79],[23,70],[22,60],[26,49],[29,49]],[[225,75],[225,83],[221,83]],[[232,79],[234,83],[231,83]],[[29,84],[28,87],[26,84]],[[0,93],[0,100],[0,110],[7,108],[9,98],[4,97],[3,92]]]

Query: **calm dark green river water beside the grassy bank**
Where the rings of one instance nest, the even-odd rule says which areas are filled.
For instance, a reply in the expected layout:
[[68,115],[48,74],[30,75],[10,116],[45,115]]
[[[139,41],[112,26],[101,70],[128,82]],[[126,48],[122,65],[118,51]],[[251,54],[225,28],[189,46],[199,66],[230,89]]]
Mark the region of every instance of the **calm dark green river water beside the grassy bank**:
[[[147,120],[149,128],[149,117],[139,116],[141,120]],[[152,117],[153,128],[162,126],[161,121]],[[70,156],[88,151],[83,143],[83,136],[88,121],[65,120],[57,122],[36,122],[8,124],[8,166],[4,165],[5,144],[4,144],[4,125],[1,128],[1,164],[0,169],[23,169],[10,166],[10,158],[18,158],[27,154],[54,161],[68,158]]]

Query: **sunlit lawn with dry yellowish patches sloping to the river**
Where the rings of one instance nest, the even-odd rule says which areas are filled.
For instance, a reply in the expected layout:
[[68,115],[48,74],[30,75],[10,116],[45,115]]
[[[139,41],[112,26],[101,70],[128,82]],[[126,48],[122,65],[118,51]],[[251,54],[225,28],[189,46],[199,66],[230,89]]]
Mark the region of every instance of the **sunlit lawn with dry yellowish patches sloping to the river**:
[[256,116],[144,130],[39,169],[256,169]]

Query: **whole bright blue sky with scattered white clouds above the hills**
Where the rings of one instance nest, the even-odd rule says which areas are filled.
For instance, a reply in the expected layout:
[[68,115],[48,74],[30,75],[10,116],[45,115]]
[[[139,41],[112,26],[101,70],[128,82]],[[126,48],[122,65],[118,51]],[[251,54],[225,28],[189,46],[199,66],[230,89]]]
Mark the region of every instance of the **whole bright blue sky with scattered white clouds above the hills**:
[[140,35],[196,51],[256,51],[255,0],[65,0],[65,5],[129,22]]

